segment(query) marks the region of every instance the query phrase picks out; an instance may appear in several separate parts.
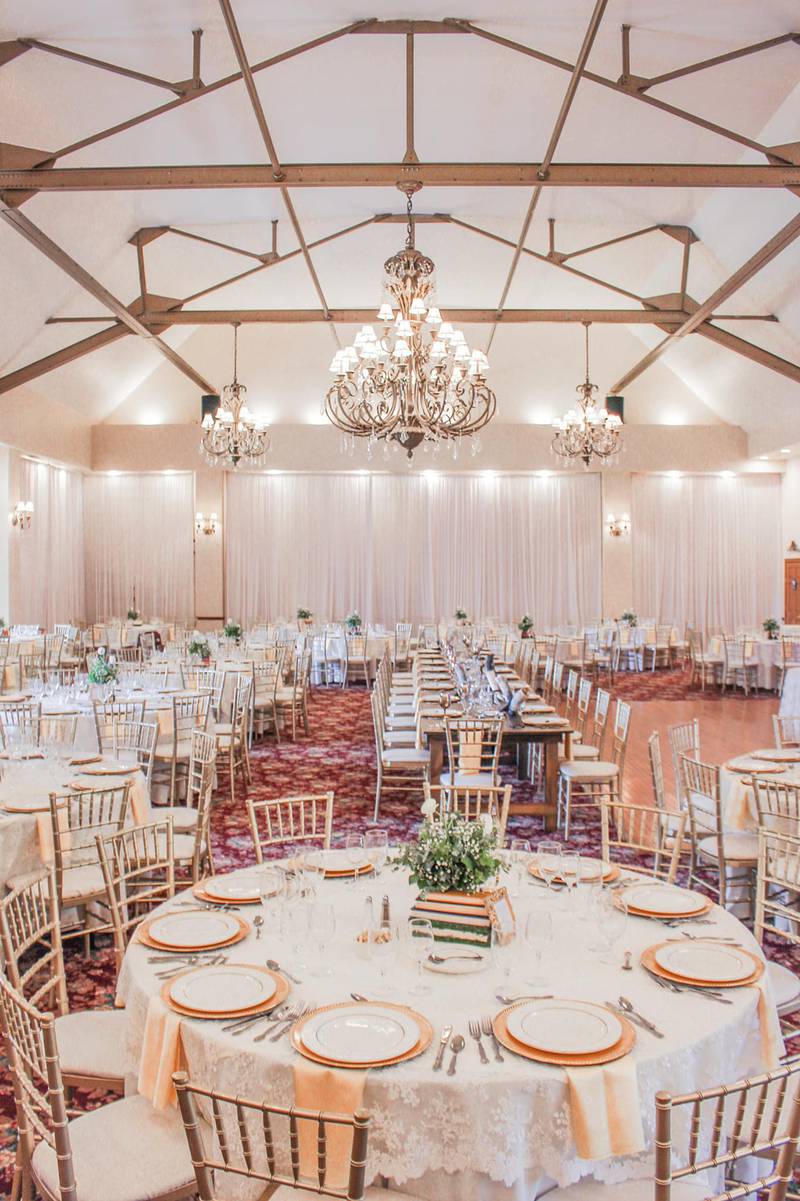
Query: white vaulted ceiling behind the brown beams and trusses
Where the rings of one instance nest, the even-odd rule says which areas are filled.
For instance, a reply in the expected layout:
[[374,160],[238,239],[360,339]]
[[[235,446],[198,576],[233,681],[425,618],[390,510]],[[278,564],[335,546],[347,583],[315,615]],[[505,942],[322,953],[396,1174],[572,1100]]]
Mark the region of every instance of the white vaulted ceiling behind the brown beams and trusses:
[[[443,19],[452,6],[388,0],[365,10],[353,0],[233,4],[251,62],[322,36],[363,17]],[[468,0],[456,16],[494,34],[573,62],[592,11],[591,0]],[[794,0],[610,0],[589,68],[616,79],[620,26],[631,24],[632,70],[651,77],[800,26]],[[169,80],[191,74],[191,31],[203,29],[202,78],[237,71],[216,0],[5,0],[0,42],[37,38]],[[416,49],[416,150],[423,162],[531,162],[544,154],[569,80],[566,71],[477,36],[425,35]],[[400,162],[405,150],[405,49],[399,35],[344,36],[256,74],[277,154],[285,163]],[[800,44],[758,54],[655,86],[649,95],[735,130],[762,145],[800,135]],[[149,83],[56,58],[32,48],[0,66],[0,141],[62,150],[102,129],[162,104],[172,94]],[[555,154],[567,162],[765,163],[756,150],[584,79]],[[796,160],[796,161],[800,161]],[[58,159],[60,167],[262,163],[244,84],[234,82],[169,113]],[[454,223],[417,228],[417,245],[436,262],[441,307],[494,310],[500,301],[530,199],[530,187],[424,187],[420,214],[449,214],[506,239],[490,240]],[[294,189],[292,199],[308,243],[374,217],[400,214],[393,187]],[[298,246],[276,189],[41,192],[22,211],[124,304],[139,292],[136,249],[141,228],[171,226],[251,252]],[[752,253],[800,211],[788,190],[549,187],[526,246],[569,252],[653,225],[688,226],[687,292],[705,300]],[[382,263],[402,241],[401,225],[371,223],[311,250],[332,309],[377,307]],[[634,309],[634,297],[680,289],[682,245],[653,231],[569,259],[613,285],[569,274],[524,255],[507,307]],[[148,291],[184,299],[257,265],[231,250],[174,232],[145,247]],[[774,315],[777,322],[717,324],[780,359],[800,363],[800,239],[721,304],[727,315]],[[107,316],[56,265],[0,222],[0,376],[105,329],[44,324],[48,317]],[[192,309],[318,309],[300,255],[185,305]],[[464,327],[471,343],[486,342],[490,324]],[[240,331],[240,375],[251,407],[271,422],[316,423],[335,348],[324,323],[247,324]],[[356,329],[339,324],[341,342]],[[663,337],[653,325],[595,324],[592,378],[603,392]],[[231,375],[228,325],[173,325],[163,340],[217,389]],[[583,374],[578,324],[508,324],[491,342],[497,420],[549,422],[572,402]],[[0,382],[1,383],[1,382]],[[197,419],[198,388],[135,335],[40,375],[24,386],[92,422],[185,423]],[[798,382],[702,334],[691,334],[625,388],[626,419],[639,423],[729,423],[751,436],[753,452],[800,441]],[[1,413],[2,396],[0,396]]]

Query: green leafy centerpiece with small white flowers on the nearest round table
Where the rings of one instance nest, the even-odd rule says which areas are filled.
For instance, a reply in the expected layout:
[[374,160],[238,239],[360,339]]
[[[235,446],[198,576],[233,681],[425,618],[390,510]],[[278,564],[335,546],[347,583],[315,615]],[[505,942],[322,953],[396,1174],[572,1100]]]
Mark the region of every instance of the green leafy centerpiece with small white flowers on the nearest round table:
[[408,878],[423,897],[428,892],[478,892],[505,867],[489,814],[466,821],[458,813],[446,813],[441,820],[426,813],[417,842],[406,843],[390,862],[408,868]]

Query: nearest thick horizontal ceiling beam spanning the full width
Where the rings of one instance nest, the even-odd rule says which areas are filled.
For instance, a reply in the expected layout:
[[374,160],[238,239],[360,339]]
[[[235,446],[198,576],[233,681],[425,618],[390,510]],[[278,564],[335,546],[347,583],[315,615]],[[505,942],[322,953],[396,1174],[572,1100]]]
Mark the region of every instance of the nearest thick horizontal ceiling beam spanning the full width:
[[[46,153],[46,151],[43,151]],[[54,155],[48,153],[48,157]],[[229,187],[800,187],[795,163],[368,162],[197,165],[179,167],[1,168],[0,192],[173,191]]]

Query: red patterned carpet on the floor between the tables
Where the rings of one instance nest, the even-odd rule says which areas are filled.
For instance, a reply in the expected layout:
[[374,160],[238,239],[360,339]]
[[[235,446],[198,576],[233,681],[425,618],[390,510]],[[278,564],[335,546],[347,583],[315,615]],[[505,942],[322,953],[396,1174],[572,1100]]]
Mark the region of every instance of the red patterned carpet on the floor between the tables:
[[[694,695],[682,670],[650,675],[621,675],[615,693],[631,700],[686,700]],[[706,693],[706,697],[712,695]],[[286,796],[298,793],[335,791],[334,831],[342,836],[363,831],[372,823],[375,803],[375,747],[369,697],[363,687],[320,689],[311,704],[311,734],[300,735],[295,743],[269,740],[252,755],[251,795]],[[503,767],[514,799],[532,799],[529,783],[517,781],[513,769]],[[381,825],[389,841],[411,837],[419,825],[420,795],[384,793]],[[537,818],[513,818],[509,833],[535,842],[543,832]],[[229,871],[253,862],[252,843],[241,795],[235,801],[220,794],[211,819],[211,841],[217,871]],[[596,852],[599,843],[597,821],[581,817],[574,837],[575,849]],[[776,952],[772,952],[776,954]],[[780,952],[776,954],[780,955]],[[781,956],[786,958],[786,956]],[[98,950],[86,961],[77,950],[67,960],[70,1003],[74,1009],[90,1009],[113,1002],[114,969],[109,950]],[[5,1062],[0,1076],[0,1195],[8,1195],[16,1146],[16,1123],[11,1081]],[[80,1095],[79,1104],[102,1104],[102,1095]]]

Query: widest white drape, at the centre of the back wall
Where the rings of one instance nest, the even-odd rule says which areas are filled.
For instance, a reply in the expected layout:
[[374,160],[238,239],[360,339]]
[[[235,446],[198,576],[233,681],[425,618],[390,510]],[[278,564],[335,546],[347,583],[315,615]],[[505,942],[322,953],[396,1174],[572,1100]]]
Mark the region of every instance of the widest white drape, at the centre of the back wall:
[[602,611],[601,534],[598,474],[231,473],[227,615],[579,625]]

